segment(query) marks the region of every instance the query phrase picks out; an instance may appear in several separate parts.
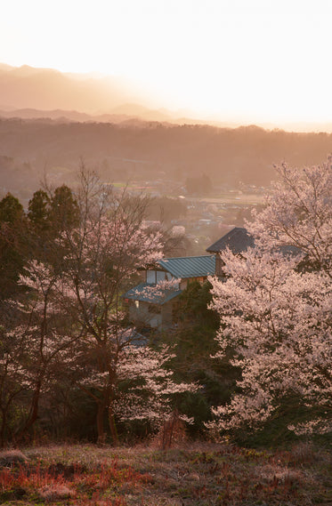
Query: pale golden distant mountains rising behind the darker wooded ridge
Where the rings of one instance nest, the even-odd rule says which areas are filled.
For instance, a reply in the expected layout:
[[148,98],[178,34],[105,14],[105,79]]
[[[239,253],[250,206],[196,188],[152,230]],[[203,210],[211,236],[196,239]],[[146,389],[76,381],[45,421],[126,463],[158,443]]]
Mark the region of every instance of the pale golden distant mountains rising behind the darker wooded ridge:
[[[175,124],[212,124],[237,127],[223,118],[199,118],[189,110],[151,108],[150,97],[134,84],[98,73],[61,73],[51,68],[20,68],[0,63],[0,116],[121,123],[131,119]],[[276,124],[259,124],[273,129]],[[287,131],[332,132],[332,123],[292,123]]]

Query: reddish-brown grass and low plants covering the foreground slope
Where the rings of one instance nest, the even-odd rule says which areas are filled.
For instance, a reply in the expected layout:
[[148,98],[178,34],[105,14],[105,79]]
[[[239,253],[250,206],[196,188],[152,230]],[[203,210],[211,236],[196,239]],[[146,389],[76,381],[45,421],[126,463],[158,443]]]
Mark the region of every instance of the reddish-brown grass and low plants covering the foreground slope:
[[306,444],[274,453],[206,443],[167,451],[50,446],[25,455],[15,462],[0,454],[1,504],[332,504],[330,454]]

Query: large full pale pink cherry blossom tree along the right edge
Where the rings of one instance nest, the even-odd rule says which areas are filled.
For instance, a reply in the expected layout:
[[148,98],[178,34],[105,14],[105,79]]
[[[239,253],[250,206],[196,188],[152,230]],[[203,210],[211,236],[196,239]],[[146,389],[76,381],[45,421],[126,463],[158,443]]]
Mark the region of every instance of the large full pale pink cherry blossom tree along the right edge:
[[287,395],[302,399],[308,420],[289,427],[332,430],[332,165],[279,166],[266,207],[247,223],[255,247],[222,253],[214,278],[221,318],[219,351],[233,349],[242,370],[219,429],[259,427]]

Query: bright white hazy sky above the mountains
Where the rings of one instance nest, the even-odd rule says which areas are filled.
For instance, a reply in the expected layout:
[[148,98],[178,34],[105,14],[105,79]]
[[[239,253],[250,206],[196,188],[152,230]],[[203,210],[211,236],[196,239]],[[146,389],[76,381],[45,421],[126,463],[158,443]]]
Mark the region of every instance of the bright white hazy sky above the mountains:
[[332,0],[2,0],[0,61],[124,76],[154,105],[331,121]]

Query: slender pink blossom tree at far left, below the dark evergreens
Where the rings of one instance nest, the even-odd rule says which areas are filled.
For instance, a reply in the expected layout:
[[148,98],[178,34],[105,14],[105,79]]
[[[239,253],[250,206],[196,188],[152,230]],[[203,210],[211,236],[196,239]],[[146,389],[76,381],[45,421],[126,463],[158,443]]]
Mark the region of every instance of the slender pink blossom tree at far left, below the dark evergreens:
[[57,297],[60,273],[38,261],[30,261],[26,270],[20,284],[28,287],[31,296],[20,304],[24,323],[11,333],[21,343],[20,370],[29,403],[15,438],[23,437],[36,422],[43,392],[54,381],[57,369],[69,365],[69,348],[80,337],[77,325],[63,314]]

